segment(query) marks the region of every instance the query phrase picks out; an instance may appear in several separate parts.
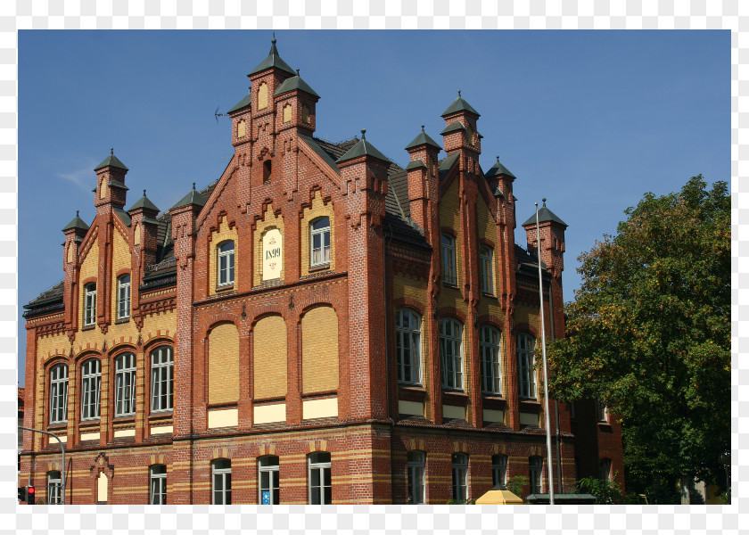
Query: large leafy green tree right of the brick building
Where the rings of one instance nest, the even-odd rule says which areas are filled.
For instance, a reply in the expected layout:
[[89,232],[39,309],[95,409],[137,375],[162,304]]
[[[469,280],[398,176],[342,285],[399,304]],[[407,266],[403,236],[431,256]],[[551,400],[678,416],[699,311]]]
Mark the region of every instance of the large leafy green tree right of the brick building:
[[[730,197],[692,177],[646,193],[617,235],[580,256],[567,337],[549,386],[602,399],[622,424],[630,485],[673,500],[673,482],[721,483],[730,440]],[[671,489],[663,489],[663,486]]]

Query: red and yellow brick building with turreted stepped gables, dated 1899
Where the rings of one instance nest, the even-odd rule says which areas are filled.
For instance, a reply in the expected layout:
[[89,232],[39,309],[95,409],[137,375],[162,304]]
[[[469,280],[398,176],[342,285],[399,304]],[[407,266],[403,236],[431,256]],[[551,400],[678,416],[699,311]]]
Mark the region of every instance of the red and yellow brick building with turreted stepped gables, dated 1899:
[[[66,503],[439,504],[514,475],[547,490],[535,217],[516,245],[515,177],[482,171],[479,112],[458,94],[443,145],[414,128],[402,169],[365,131],[315,137],[319,96],[275,39],[248,76],[223,175],[124,210],[112,152],[95,219],[62,229],[64,279],[25,306],[25,423],[63,437]],[[565,228],[544,205],[557,337]],[[621,480],[605,409],[550,407],[563,487]],[[21,455],[48,501],[55,444],[27,432]]]

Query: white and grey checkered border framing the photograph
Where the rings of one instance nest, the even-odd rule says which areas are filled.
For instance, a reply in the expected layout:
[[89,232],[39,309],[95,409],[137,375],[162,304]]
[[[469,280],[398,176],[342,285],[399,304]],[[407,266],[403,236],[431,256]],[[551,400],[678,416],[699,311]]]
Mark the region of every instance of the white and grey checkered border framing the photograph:
[[[291,13],[294,13],[293,15]],[[300,13],[303,13],[301,15]],[[744,0],[19,0],[0,4],[0,531],[176,533],[737,533],[749,496],[749,4]],[[19,29],[730,29],[732,506],[17,506],[16,236],[17,31]],[[739,161],[739,159],[743,161]],[[739,307],[739,303],[745,303]],[[741,518],[745,520],[742,522]]]

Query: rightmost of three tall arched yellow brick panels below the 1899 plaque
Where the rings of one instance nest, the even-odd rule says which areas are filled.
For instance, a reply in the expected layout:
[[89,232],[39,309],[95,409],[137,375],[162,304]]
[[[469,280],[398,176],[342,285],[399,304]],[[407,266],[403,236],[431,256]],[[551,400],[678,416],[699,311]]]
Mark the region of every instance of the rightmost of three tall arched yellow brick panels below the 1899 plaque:
[[301,320],[304,393],[338,389],[338,317],[330,307],[310,310]]

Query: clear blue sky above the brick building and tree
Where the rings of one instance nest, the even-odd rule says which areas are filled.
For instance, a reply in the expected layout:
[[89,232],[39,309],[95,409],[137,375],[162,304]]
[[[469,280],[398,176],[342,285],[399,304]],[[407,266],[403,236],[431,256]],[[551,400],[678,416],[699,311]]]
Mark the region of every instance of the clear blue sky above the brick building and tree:
[[[517,177],[518,223],[534,202],[569,225],[564,300],[577,257],[613,234],[646,192],[702,173],[730,180],[730,33],[714,31],[277,31],[279,53],[321,96],[317,133],[366,138],[405,166],[403,147],[462,90],[481,113],[481,167]],[[271,32],[52,31],[18,36],[19,377],[22,305],[62,280],[61,229],[95,215],[94,168],[114,148],[162,210],[231,155],[214,111],[247,93]],[[441,152],[440,157],[445,155]],[[524,244],[523,228],[516,241]]]

